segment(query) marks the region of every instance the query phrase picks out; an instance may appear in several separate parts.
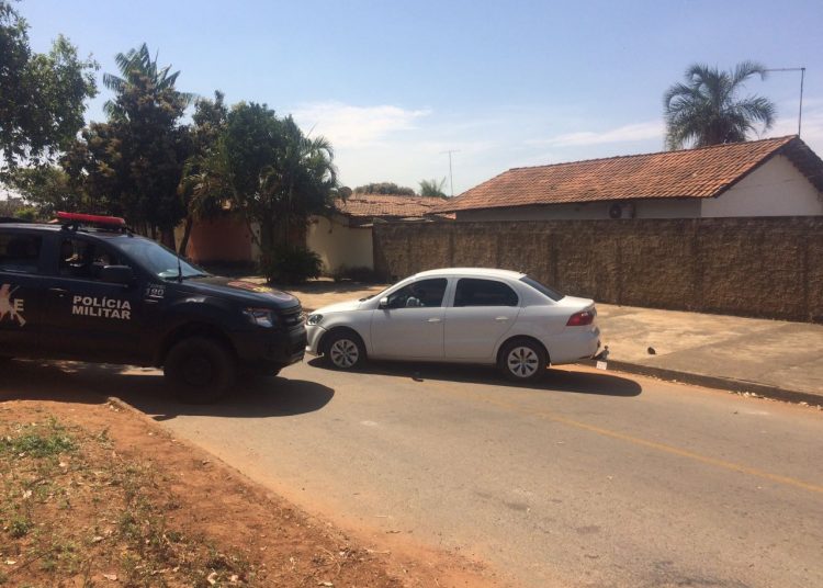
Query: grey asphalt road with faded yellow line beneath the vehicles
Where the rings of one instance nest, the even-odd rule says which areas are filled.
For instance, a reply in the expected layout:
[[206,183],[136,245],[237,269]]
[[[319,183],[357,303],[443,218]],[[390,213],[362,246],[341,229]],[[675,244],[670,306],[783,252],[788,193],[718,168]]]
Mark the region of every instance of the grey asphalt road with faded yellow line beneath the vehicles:
[[823,586],[823,411],[577,368],[302,364],[208,407],[153,372],[87,381],[343,528],[516,585]]

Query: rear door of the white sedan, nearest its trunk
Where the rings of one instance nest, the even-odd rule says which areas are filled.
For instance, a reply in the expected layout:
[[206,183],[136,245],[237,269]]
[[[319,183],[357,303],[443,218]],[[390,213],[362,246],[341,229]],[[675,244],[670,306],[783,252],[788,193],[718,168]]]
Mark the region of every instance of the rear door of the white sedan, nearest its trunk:
[[497,342],[511,329],[519,312],[520,299],[505,282],[460,278],[454,302],[444,314],[446,359],[494,361]]

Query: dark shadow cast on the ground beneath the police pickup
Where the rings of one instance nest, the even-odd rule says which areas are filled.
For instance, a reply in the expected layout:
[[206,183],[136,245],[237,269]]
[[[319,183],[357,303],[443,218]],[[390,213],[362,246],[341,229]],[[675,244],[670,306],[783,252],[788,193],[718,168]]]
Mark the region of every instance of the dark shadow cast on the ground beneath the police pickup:
[[0,400],[102,404],[116,396],[156,420],[181,415],[285,417],[319,410],[335,395],[328,386],[286,377],[239,382],[213,405],[177,402],[157,370],[76,362],[11,361],[0,368]]

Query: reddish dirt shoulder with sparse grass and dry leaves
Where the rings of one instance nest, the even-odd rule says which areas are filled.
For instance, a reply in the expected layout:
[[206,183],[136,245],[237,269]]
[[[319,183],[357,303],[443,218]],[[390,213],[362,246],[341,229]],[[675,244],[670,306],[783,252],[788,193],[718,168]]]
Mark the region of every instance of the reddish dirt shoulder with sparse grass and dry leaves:
[[458,556],[347,534],[119,400],[71,392],[58,366],[38,373],[66,382],[65,402],[26,394],[31,368],[0,382],[0,585],[499,586]]

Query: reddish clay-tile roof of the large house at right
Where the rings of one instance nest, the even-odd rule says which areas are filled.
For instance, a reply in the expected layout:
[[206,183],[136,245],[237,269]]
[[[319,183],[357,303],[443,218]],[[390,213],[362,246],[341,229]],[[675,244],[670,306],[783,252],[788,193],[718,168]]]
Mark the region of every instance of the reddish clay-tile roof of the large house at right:
[[699,149],[514,168],[443,202],[436,212],[719,196],[776,155],[787,156],[823,192],[823,160],[792,135]]

